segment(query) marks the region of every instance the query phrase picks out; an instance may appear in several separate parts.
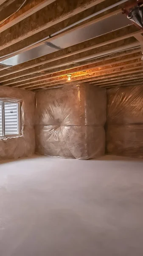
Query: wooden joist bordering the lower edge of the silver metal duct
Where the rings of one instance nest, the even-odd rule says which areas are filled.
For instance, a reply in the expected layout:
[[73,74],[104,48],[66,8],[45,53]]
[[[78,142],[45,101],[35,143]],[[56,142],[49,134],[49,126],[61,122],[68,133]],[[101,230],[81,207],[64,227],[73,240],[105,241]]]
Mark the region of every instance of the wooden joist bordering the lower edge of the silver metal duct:
[[[85,42],[81,42],[79,44],[73,45],[71,47],[67,47],[65,49],[59,50],[57,52],[53,52],[42,57],[33,59],[31,61],[27,61],[25,63],[19,64],[17,66],[8,68],[8,70],[3,71],[2,74],[6,73],[16,73],[19,70],[26,70],[32,67],[36,67],[42,64],[50,63],[51,61],[56,61],[65,57],[69,57],[74,55],[75,53],[85,52],[90,49],[94,49],[100,46],[104,46],[106,44],[114,43],[115,41],[119,41],[121,39],[125,39],[141,33],[141,31],[134,25],[126,26],[124,28],[109,32],[107,34],[92,38]],[[6,69],[6,68],[4,68]],[[3,68],[0,70],[2,71]]]

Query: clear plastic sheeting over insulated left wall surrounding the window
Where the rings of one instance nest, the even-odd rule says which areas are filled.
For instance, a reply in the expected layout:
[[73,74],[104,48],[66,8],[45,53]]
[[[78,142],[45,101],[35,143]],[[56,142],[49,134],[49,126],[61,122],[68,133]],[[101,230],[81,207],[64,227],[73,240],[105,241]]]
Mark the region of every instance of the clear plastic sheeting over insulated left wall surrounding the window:
[[20,136],[0,137],[0,160],[34,154],[35,93],[0,86],[0,99],[20,102]]

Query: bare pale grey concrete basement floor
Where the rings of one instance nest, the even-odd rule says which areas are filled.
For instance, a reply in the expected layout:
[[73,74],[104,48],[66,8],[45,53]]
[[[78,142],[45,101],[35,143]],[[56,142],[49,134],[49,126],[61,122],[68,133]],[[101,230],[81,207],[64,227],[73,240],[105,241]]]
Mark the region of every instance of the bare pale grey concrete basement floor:
[[0,256],[142,255],[143,161],[1,163]]

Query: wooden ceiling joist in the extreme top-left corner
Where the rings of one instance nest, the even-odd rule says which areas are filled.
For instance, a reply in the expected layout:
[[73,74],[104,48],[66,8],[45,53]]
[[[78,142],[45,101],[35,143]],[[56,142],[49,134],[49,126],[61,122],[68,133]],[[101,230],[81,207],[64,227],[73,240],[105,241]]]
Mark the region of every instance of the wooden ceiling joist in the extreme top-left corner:
[[[25,2],[25,5],[22,6],[18,12],[16,12],[24,2],[24,0],[16,0],[14,3],[11,3],[11,5],[5,8],[4,12],[0,12],[0,33],[55,1],[56,0],[28,1],[28,3]],[[11,17],[9,17],[10,15]],[[7,17],[9,18],[7,19]],[[3,23],[1,23],[2,20]]]

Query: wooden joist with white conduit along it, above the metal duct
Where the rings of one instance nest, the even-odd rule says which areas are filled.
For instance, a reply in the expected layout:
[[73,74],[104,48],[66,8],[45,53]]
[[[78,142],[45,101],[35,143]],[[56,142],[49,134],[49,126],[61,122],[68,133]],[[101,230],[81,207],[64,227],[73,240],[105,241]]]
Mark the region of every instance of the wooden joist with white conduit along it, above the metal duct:
[[[127,1],[126,3],[128,3],[128,2],[130,3],[131,1],[132,0]],[[56,25],[51,26],[48,29],[45,29],[45,30],[42,30],[39,33],[36,33],[35,35],[31,35],[28,39],[22,40],[20,44],[19,43],[15,43],[15,41],[14,41],[14,45],[12,45],[12,46],[10,46],[10,47],[8,47],[6,49],[3,49],[0,52],[0,57],[3,56],[1,61],[6,59],[6,58],[8,58],[8,57],[4,57],[5,55],[9,54],[9,58],[10,58],[10,57],[12,57],[12,56],[14,56],[16,54],[20,54],[21,52],[25,52],[26,50],[33,49],[34,47],[37,47],[37,46],[43,44],[44,41],[39,42],[39,43],[37,43],[37,41],[44,40],[45,35],[51,35],[51,34],[53,34],[55,32],[59,32],[59,30],[64,29],[65,27],[72,25],[73,23],[81,20],[84,17],[87,17],[88,15],[91,15],[91,14],[93,14],[95,12],[101,11],[102,9],[106,8],[107,6],[111,6],[115,2],[117,3],[117,2],[119,2],[119,0],[110,0],[110,1],[106,0],[103,3],[99,3],[98,5],[96,5],[93,8],[90,8],[90,9],[87,9],[87,10],[83,11],[82,15],[79,15],[79,14],[78,15],[74,15],[74,17],[70,17],[67,20],[59,22]],[[76,28],[83,28],[84,26],[88,26],[88,25],[93,24],[95,22],[98,22],[100,20],[104,20],[107,17],[111,17],[112,15],[116,15],[116,14],[121,12],[121,8],[123,6],[124,6],[123,4],[118,5],[118,6],[112,8],[112,9],[106,11],[106,12],[101,13],[100,15],[97,15],[96,17],[93,17],[93,18],[90,18],[89,20],[81,22],[78,25],[73,26],[73,28],[67,29],[64,32],[60,32],[58,35],[55,35],[53,37],[53,39],[59,38],[60,36],[67,34],[67,32],[72,32]],[[46,39],[46,41],[51,41],[51,38],[49,40]]]

